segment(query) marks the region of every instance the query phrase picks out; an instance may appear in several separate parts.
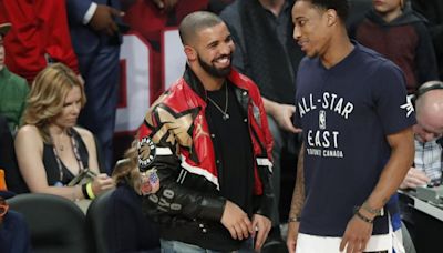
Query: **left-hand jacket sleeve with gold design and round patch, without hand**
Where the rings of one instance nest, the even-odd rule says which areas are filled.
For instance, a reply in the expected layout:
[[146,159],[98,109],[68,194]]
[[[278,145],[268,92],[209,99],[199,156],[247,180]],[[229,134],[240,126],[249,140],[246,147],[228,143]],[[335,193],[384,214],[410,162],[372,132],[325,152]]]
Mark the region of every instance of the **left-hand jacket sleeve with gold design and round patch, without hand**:
[[[151,159],[145,160],[147,162],[141,169],[156,171],[159,189],[144,198],[144,211],[219,222],[226,200],[218,196],[216,186],[204,176],[187,173],[181,166],[182,149],[192,149],[192,113],[175,113],[164,104],[147,113],[142,138],[151,143],[146,152]],[[138,155],[141,152],[138,149]]]

